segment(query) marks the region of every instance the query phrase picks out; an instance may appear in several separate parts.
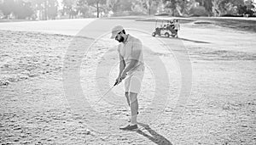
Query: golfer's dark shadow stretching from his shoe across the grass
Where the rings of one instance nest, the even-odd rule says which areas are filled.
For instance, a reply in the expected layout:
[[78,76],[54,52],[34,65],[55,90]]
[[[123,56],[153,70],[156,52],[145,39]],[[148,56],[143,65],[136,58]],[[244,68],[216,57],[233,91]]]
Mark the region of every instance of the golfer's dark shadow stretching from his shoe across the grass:
[[140,129],[137,130],[137,133],[143,135],[144,137],[148,137],[148,139],[158,145],[172,145],[172,142],[168,141],[166,137],[161,136],[156,131],[152,130],[149,125],[145,125],[143,123],[138,123],[138,125],[142,125],[145,130],[147,130],[150,135],[141,131]]

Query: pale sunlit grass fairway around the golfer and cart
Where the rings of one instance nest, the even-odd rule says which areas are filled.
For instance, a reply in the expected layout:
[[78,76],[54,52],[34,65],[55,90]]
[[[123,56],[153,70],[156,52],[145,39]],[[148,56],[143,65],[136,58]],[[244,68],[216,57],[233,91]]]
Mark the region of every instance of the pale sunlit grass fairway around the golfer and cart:
[[[154,22],[131,18],[1,23],[0,144],[255,144],[253,21],[192,19],[181,25],[179,38],[155,38]],[[119,130],[129,115],[119,104],[125,103],[123,84],[91,109],[118,74],[117,42],[109,39],[113,25],[131,28],[127,32],[143,41],[139,131]],[[68,81],[68,98],[63,70],[73,72],[78,59],[80,86],[75,77]],[[168,78],[155,76],[165,72],[155,69],[156,60]],[[191,82],[183,81],[187,76]],[[191,85],[185,89],[190,95],[179,103],[183,82]],[[156,85],[162,87],[154,99]],[[164,109],[152,105],[165,97]],[[73,111],[73,102],[81,109]],[[142,120],[152,116],[150,123]]]

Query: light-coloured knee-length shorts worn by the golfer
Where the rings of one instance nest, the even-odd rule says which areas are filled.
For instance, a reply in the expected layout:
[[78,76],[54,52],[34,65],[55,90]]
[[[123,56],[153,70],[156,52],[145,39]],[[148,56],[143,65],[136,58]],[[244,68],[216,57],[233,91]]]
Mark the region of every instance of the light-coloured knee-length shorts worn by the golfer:
[[139,93],[143,84],[144,68],[134,70],[125,78],[125,92]]

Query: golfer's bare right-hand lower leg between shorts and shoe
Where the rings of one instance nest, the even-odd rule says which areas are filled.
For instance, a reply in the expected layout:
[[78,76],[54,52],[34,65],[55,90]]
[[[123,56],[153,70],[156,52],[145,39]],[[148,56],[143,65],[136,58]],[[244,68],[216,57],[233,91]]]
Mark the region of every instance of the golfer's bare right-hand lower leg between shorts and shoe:
[[138,112],[138,102],[137,93],[130,92],[130,107],[131,107],[131,124],[137,124],[137,112]]

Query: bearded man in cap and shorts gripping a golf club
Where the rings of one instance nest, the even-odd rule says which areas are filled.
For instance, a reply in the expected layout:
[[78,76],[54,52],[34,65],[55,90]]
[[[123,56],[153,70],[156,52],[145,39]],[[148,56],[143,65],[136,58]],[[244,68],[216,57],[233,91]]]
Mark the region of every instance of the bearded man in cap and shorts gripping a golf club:
[[143,44],[136,37],[125,34],[121,25],[113,27],[111,38],[119,42],[120,64],[116,84],[125,80],[125,98],[131,108],[130,124],[119,129],[131,131],[137,129],[137,95],[140,92],[144,75]]

